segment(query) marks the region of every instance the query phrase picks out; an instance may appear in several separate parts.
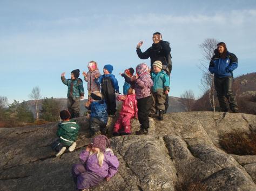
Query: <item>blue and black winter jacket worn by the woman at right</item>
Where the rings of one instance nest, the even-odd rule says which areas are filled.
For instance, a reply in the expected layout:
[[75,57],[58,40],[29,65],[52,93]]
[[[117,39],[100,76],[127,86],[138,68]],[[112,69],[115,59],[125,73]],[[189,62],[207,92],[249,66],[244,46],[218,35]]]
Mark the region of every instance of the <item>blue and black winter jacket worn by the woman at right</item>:
[[233,70],[237,69],[238,66],[238,59],[235,54],[227,52],[225,58],[220,58],[217,49],[214,50],[214,53],[209,65],[209,71],[219,78],[233,77]]

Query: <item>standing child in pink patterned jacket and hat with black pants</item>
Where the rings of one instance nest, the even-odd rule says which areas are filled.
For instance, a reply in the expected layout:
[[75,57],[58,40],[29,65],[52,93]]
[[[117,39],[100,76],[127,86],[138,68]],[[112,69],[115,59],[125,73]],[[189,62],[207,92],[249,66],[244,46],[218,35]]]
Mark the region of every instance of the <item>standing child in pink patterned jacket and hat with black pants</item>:
[[139,64],[136,67],[136,75],[131,78],[134,82],[136,99],[138,102],[138,119],[140,130],[136,134],[147,134],[149,129],[149,112],[152,107],[152,98],[150,89],[153,86],[153,81],[150,77],[150,69],[145,64]]

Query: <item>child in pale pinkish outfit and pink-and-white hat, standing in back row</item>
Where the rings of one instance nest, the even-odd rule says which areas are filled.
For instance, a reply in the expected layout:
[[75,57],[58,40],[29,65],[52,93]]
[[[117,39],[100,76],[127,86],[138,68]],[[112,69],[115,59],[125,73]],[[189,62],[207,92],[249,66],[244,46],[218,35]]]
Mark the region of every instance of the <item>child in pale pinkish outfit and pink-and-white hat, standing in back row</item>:
[[95,82],[95,76],[100,76],[100,72],[98,70],[97,63],[95,61],[91,61],[87,65],[88,72],[83,72],[84,80],[87,82],[87,90],[88,90],[88,99],[90,97],[91,92],[100,91],[100,85]]

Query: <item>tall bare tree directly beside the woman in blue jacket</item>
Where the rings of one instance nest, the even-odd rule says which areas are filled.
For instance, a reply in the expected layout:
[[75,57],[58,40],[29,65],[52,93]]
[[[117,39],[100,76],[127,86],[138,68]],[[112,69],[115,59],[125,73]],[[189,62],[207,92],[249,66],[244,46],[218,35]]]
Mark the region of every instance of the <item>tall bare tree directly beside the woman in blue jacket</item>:
[[216,49],[218,40],[215,38],[207,38],[203,43],[199,44],[199,48],[202,51],[203,59],[199,64],[199,69],[203,72],[201,78],[201,90],[204,93],[208,93],[210,104],[215,112],[215,99],[214,99],[214,74],[211,74],[208,70],[209,63]]

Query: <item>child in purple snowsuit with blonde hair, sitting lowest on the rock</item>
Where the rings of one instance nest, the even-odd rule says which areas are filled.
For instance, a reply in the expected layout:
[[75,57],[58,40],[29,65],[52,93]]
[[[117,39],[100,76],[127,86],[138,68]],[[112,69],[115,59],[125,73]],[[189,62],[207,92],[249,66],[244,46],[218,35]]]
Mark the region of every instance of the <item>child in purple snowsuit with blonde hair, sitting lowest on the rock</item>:
[[119,166],[105,135],[93,138],[91,144],[80,153],[79,159],[82,163],[72,166],[73,179],[79,190],[89,190],[104,179],[110,181]]

